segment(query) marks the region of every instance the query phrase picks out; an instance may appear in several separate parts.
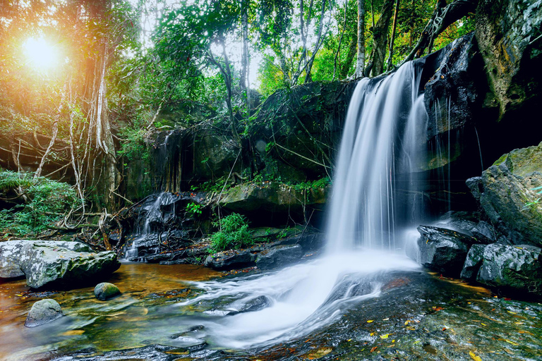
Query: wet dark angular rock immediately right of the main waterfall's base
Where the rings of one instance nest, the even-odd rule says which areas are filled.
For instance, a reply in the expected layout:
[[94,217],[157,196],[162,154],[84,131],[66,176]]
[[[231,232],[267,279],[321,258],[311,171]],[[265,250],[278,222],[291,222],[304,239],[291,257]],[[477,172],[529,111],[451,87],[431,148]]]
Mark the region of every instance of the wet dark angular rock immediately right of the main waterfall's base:
[[449,276],[459,276],[473,237],[445,228],[419,226],[418,262]]

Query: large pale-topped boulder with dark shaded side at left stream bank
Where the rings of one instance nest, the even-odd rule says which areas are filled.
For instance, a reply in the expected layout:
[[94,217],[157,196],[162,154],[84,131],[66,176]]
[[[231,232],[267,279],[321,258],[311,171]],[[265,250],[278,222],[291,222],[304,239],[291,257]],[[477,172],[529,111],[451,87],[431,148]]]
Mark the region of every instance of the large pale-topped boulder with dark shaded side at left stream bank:
[[20,252],[20,269],[31,288],[81,285],[121,266],[115,252],[77,252],[47,243],[29,243]]

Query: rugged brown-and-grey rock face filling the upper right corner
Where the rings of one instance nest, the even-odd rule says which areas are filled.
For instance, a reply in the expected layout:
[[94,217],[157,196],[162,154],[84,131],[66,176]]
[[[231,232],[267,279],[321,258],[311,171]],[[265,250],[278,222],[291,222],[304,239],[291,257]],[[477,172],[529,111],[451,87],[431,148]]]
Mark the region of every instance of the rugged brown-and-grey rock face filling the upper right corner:
[[[542,2],[481,0],[476,9],[476,39],[500,108],[500,116],[540,99]],[[510,119],[512,121],[512,119]],[[526,119],[513,119],[518,121]]]

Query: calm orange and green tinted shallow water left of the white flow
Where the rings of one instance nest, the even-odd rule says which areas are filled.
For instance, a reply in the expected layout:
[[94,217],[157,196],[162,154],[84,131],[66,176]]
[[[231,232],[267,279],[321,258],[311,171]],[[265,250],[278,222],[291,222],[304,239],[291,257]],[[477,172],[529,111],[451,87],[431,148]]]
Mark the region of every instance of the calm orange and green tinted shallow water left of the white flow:
[[[114,350],[157,343],[175,332],[161,309],[191,295],[186,281],[205,281],[218,272],[194,265],[122,264],[107,280],[122,295],[103,302],[93,288],[33,293],[24,279],[0,281],[0,360],[42,360],[59,353],[94,348]],[[98,281],[96,282],[98,283]],[[24,326],[32,304],[53,298],[64,317],[43,326]]]

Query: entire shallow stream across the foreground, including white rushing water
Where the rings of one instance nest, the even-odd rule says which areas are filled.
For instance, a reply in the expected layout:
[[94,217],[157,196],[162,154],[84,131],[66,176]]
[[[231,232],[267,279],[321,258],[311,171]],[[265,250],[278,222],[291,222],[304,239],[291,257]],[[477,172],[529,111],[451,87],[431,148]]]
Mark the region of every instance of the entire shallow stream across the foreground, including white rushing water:
[[[364,254],[340,271],[351,262],[266,274],[123,264],[109,279],[123,294],[107,302],[92,288],[35,293],[24,280],[1,283],[0,359],[542,359],[540,304]],[[41,298],[65,316],[25,328]]]

